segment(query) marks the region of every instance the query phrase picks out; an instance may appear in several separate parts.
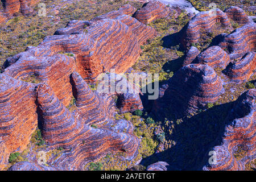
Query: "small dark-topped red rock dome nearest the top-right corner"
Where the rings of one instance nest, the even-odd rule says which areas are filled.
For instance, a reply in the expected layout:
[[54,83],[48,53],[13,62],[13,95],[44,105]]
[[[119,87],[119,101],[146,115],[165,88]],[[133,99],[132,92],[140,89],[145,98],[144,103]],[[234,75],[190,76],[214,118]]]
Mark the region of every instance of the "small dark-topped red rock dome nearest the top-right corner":
[[243,11],[240,7],[237,6],[231,6],[228,9],[224,11],[229,19],[240,23],[240,24],[246,24],[250,22],[248,16],[246,15],[245,11]]

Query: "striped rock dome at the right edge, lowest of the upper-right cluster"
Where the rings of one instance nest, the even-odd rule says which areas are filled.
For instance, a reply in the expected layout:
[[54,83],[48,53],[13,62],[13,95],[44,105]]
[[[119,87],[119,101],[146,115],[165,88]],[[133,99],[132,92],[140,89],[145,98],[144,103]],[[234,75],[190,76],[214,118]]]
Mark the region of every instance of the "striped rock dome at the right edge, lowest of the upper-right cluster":
[[241,60],[230,63],[224,70],[225,75],[236,82],[247,81],[255,70],[255,52],[248,52]]

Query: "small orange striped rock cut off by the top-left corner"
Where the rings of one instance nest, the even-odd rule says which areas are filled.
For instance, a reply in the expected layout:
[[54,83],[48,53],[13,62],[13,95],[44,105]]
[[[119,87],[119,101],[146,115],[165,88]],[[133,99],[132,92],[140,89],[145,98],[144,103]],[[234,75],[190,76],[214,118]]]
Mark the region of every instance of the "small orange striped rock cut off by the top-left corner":
[[0,5],[0,23],[12,18],[15,13],[20,12],[23,15],[31,15],[33,13],[31,7],[38,2],[39,0],[2,0]]

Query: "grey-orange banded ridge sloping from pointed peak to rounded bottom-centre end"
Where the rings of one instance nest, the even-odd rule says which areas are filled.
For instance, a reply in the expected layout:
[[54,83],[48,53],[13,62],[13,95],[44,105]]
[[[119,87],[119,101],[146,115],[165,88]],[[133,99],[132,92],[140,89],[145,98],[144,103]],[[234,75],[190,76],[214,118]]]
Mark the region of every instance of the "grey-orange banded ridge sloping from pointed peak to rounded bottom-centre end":
[[[129,159],[134,157],[139,141],[133,135],[133,129],[128,130],[127,133],[108,130],[106,126],[101,128],[101,125],[97,125],[98,128],[94,129],[86,122],[88,118],[83,116],[81,119],[78,116],[84,110],[71,113],[61,104],[48,85],[40,84],[36,92],[43,120],[43,138],[50,148],[63,147],[67,150],[53,162],[52,166],[81,170],[86,163],[100,159],[109,152],[117,151],[125,151]],[[87,105],[86,108],[88,107]],[[100,109],[94,105],[90,107],[94,110]],[[93,117],[92,114],[94,113],[89,117]],[[131,123],[130,127],[132,127]]]

